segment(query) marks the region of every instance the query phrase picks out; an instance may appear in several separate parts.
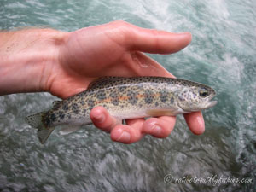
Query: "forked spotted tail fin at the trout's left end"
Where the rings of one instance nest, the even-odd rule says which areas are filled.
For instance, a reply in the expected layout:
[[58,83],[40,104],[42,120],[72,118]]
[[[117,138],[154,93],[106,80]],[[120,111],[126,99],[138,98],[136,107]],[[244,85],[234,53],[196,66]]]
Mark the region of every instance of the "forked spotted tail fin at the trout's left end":
[[33,128],[38,129],[38,138],[40,143],[44,144],[49,137],[50,133],[54,131],[53,127],[47,127],[43,123],[45,112],[32,114],[26,117],[26,122]]

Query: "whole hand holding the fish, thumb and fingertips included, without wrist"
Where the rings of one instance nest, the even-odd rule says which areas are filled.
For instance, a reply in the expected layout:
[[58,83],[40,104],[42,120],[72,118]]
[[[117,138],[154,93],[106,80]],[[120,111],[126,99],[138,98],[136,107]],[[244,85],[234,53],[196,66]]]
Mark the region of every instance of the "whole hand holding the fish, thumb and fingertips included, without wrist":
[[[91,26],[67,33],[60,50],[60,66],[52,74],[55,79],[49,91],[66,98],[72,96],[101,76],[165,76],[174,77],[159,63],[142,52],[171,54],[186,47],[191,41],[188,32],[175,34],[133,26],[114,21],[102,26]],[[195,134],[205,130],[201,112],[184,115],[189,129]],[[113,141],[135,143],[145,134],[167,137],[176,117],[129,119],[120,125],[107,110],[96,107],[90,118],[96,127],[111,133]]]

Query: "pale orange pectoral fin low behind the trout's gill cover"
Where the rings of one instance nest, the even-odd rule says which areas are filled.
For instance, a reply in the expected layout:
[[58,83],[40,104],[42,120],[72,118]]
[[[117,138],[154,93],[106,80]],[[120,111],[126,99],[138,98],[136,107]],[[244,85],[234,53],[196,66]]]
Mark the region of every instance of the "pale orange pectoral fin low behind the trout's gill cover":
[[179,113],[178,108],[150,108],[146,111],[149,116],[175,116]]

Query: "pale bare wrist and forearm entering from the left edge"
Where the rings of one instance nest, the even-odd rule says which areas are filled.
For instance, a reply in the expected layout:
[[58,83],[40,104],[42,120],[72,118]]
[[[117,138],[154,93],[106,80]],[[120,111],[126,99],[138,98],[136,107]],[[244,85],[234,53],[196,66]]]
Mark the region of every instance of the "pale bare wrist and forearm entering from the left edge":
[[49,90],[65,34],[52,29],[0,33],[0,95]]

